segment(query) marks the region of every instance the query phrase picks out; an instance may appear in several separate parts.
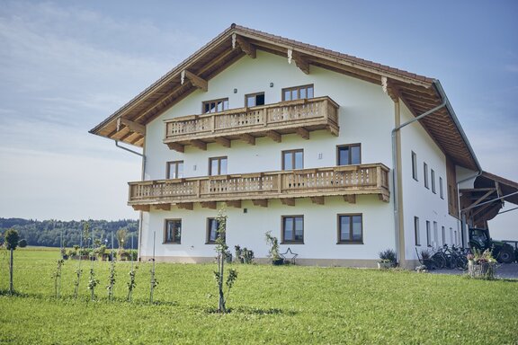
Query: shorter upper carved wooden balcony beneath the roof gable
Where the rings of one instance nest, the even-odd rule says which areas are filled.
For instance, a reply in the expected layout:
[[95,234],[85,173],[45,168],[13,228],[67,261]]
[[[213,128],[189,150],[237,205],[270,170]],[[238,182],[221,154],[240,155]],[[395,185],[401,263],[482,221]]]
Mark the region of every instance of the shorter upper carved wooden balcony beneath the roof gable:
[[251,145],[256,137],[281,142],[281,135],[289,133],[308,139],[309,132],[318,129],[337,136],[338,108],[331,98],[319,97],[166,119],[164,143],[183,152],[187,145],[206,150],[214,142],[230,147],[235,139]]

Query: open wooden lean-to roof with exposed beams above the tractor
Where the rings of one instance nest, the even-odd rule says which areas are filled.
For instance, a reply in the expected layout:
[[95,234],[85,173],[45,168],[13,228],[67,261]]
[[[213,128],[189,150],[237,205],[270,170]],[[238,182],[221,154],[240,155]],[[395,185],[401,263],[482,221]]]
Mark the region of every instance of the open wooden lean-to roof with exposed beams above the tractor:
[[460,207],[477,227],[487,227],[487,221],[496,217],[505,201],[518,205],[518,183],[492,173],[481,173],[473,188],[460,192]]

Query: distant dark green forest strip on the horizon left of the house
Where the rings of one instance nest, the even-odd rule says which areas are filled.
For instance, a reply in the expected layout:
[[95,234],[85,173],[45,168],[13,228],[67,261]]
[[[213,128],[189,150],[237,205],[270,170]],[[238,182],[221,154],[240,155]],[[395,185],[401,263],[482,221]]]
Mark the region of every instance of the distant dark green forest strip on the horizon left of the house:
[[[59,247],[61,236],[66,247],[79,245],[81,233],[85,223],[90,226],[90,234],[94,239],[101,239],[107,247],[119,247],[115,234],[119,229],[126,229],[128,235],[124,241],[124,248],[131,248],[131,237],[133,237],[133,248],[138,247],[138,221],[131,219],[122,220],[81,220],[63,222],[60,220],[32,220],[21,218],[0,218],[0,243],[4,242],[4,232],[7,229],[15,229],[20,234],[20,239],[27,240],[28,245],[44,245],[48,247]],[[106,242],[106,240],[108,240]]]

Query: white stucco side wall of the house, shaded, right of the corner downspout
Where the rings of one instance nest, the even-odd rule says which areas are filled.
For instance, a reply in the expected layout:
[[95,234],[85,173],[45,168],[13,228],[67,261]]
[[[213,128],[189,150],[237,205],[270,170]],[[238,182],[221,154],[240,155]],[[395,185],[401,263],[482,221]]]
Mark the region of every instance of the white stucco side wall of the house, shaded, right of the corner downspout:
[[[430,115],[433,116],[433,115]],[[414,116],[401,102],[401,123]],[[406,259],[416,260],[415,248],[426,249],[426,221],[430,222],[432,245],[442,245],[442,226],[445,227],[445,243],[460,244],[458,221],[448,213],[448,190],[446,180],[446,157],[419,122],[414,122],[400,130],[401,133],[401,174],[403,180],[403,208],[405,228]],[[412,176],[412,152],[417,156],[417,180]],[[429,189],[424,187],[424,163],[428,165]],[[432,191],[431,171],[435,172],[436,193]],[[442,178],[441,199],[439,178]],[[419,217],[421,245],[415,246],[414,217]],[[438,241],[433,234],[433,222],[437,223]],[[456,238],[455,238],[456,236]],[[452,240],[452,237],[453,240]]]

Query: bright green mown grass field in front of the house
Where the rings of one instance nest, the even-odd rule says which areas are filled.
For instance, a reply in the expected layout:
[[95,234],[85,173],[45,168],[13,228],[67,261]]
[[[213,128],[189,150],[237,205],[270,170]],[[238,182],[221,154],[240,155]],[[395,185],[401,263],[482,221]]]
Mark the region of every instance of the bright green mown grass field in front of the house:
[[7,296],[7,253],[0,252],[1,344],[517,344],[518,281],[483,281],[407,271],[233,265],[238,279],[229,314],[216,314],[215,265],[156,264],[149,304],[149,263],[138,264],[134,301],[125,302],[129,263],[116,264],[108,301],[107,262],[94,262],[100,284],[90,301],[90,262],[66,261],[62,297],[51,278],[57,251],[18,249]]

